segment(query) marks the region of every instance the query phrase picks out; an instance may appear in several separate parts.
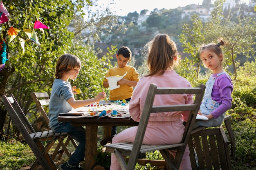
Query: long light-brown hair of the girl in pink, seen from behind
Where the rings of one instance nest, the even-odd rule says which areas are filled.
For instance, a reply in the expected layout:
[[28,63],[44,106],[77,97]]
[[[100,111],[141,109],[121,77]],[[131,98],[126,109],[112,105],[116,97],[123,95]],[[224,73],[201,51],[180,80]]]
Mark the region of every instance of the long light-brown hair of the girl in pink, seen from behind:
[[146,46],[150,71],[146,76],[162,75],[165,70],[178,65],[180,57],[176,44],[167,34],[157,34]]

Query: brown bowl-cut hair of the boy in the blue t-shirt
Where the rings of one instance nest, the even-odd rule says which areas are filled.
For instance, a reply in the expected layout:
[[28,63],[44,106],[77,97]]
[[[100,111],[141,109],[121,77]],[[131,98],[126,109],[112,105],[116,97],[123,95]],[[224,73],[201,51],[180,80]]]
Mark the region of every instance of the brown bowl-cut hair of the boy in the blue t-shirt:
[[57,79],[61,79],[63,73],[67,73],[76,67],[81,68],[81,60],[75,55],[63,54],[57,61],[55,76]]

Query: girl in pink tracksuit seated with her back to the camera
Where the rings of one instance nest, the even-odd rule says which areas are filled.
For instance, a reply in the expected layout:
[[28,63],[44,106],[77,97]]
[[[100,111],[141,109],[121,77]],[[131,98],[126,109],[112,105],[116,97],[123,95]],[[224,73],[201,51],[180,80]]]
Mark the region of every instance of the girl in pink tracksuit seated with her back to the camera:
[[[140,121],[141,113],[145,105],[148,88],[151,83],[157,87],[191,87],[191,84],[184,77],[181,77],[173,70],[173,67],[180,60],[177,47],[168,35],[158,34],[148,44],[148,68],[149,73],[142,77],[130,100],[129,112],[133,120]],[[192,104],[193,95],[156,95],[154,104]],[[152,113],[142,144],[161,145],[176,144],[182,140],[184,133],[183,120],[187,121],[189,112],[166,112]],[[112,144],[119,142],[134,142],[138,126],[128,128],[118,133]],[[169,151],[175,156],[175,151]],[[110,170],[121,170],[114,154],[111,155]],[[186,146],[180,170],[191,170],[189,158],[189,147]]]

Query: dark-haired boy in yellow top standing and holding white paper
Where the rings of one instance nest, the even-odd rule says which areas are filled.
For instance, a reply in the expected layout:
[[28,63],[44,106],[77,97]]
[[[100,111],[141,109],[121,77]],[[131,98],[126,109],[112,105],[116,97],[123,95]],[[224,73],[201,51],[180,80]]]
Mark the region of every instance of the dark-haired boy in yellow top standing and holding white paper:
[[[139,82],[139,73],[132,66],[128,66],[127,63],[131,60],[132,52],[126,46],[122,46],[117,52],[117,66],[110,68],[105,77],[116,76],[116,75],[126,75],[117,82],[117,85],[120,85],[119,88],[115,88],[110,91],[110,100],[123,100],[129,102],[132,93],[133,87]],[[108,88],[108,79],[104,78],[103,87]],[[115,132],[114,132],[115,131]],[[112,127],[112,135],[116,135],[117,127]]]

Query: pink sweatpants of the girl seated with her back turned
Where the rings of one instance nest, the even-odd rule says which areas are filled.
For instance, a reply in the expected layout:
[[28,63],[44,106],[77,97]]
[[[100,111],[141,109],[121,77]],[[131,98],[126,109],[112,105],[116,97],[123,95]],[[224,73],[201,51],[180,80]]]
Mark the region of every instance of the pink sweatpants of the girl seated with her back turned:
[[[118,133],[113,137],[112,144],[119,142],[134,142],[137,128],[138,126],[134,126]],[[181,120],[171,122],[148,122],[142,144],[177,144],[182,140],[183,133],[184,125]],[[169,152],[175,157],[175,151]],[[121,170],[114,154],[111,154],[110,170]],[[179,170],[192,170],[188,146],[186,146]]]

